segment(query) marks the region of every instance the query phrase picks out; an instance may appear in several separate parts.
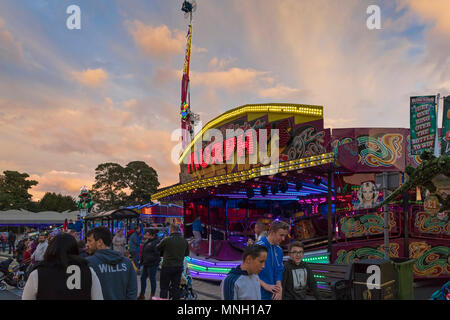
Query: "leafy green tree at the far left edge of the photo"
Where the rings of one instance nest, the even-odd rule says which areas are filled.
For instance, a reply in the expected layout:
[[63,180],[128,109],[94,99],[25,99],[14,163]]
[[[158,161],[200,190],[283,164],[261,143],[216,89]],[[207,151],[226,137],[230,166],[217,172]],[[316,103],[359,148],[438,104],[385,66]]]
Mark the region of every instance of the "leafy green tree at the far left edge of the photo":
[[28,209],[32,195],[28,189],[38,184],[35,180],[26,180],[30,176],[18,171],[3,171],[0,176],[0,210]]

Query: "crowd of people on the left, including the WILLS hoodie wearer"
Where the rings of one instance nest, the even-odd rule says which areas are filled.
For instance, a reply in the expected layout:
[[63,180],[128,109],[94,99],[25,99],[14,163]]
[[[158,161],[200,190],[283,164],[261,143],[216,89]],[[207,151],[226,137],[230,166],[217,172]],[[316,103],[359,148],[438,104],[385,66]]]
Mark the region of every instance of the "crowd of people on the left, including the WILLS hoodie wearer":
[[85,241],[69,226],[65,223],[58,232],[36,237],[27,237],[33,234],[28,229],[17,243],[15,258],[27,275],[23,300],[144,300],[148,280],[149,299],[157,299],[159,268],[159,299],[180,298],[189,245],[179,225],[170,225],[164,238],[158,230],[139,225],[126,235],[123,229],[113,235],[108,228],[97,227]]

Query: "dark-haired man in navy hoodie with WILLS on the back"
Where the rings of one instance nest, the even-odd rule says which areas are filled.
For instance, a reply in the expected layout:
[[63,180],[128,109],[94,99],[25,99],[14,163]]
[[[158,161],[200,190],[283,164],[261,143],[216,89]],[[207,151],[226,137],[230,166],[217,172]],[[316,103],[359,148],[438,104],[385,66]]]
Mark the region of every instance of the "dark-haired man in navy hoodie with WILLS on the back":
[[87,233],[87,258],[102,286],[105,300],[136,300],[137,275],[131,260],[110,249],[112,234],[105,227]]

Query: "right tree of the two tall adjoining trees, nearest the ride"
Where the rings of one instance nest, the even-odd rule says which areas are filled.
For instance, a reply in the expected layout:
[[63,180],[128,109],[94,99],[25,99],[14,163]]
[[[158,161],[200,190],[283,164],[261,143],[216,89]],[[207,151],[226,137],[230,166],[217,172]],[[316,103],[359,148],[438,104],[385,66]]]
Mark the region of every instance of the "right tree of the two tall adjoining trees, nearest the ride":
[[132,161],[125,167],[125,179],[131,194],[128,205],[146,204],[151,202],[150,196],[159,187],[158,174],[155,169],[144,161]]

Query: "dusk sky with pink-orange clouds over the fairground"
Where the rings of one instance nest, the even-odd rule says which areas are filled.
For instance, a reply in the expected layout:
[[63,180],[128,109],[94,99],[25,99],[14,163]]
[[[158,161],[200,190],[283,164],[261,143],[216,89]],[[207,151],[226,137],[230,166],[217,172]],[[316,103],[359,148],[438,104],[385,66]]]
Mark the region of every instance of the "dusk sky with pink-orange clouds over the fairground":
[[[34,200],[76,196],[103,162],[145,161],[161,187],[177,183],[182,2],[0,0],[0,172],[30,174]],[[323,106],[328,128],[408,128],[410,96],[450,94],[450,0],[197,3],[191,108],[204,124],[279,102]],[[73,4],[81,30],[66,27]],[[380,30],[366,25],[373,4]]]

